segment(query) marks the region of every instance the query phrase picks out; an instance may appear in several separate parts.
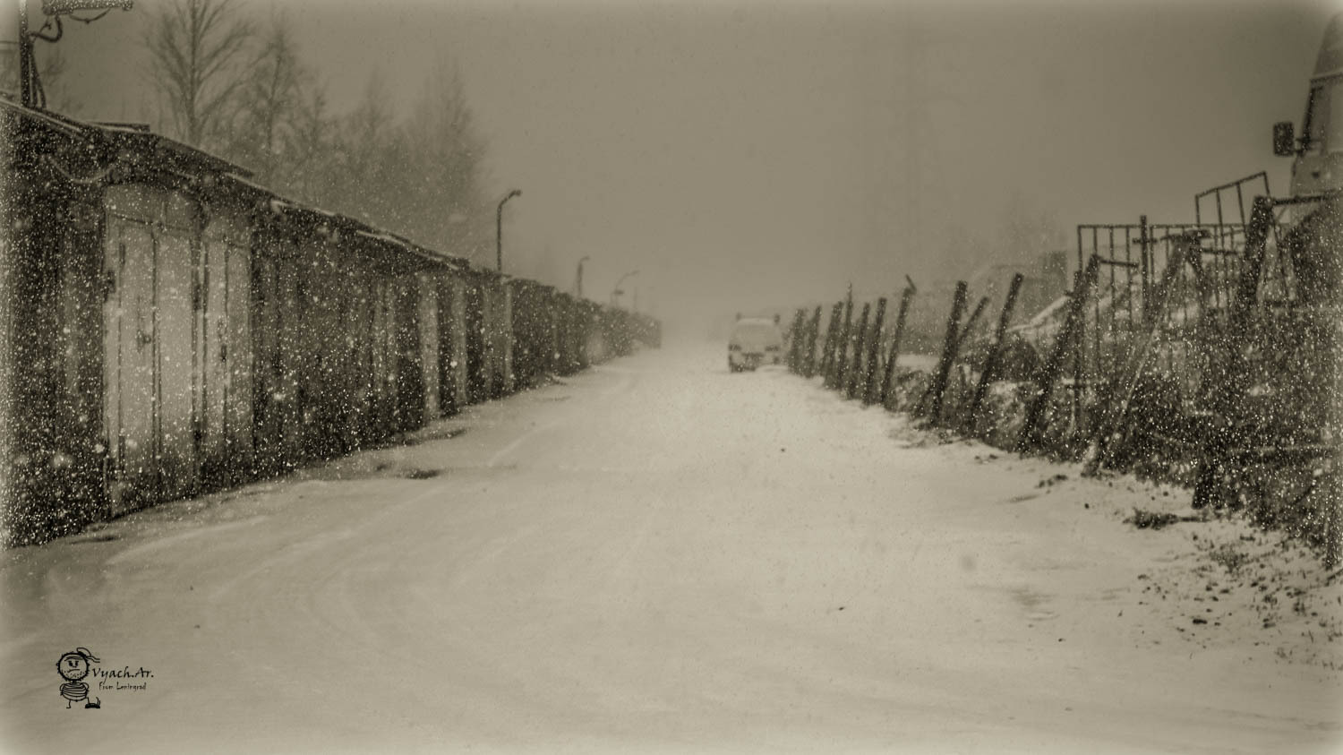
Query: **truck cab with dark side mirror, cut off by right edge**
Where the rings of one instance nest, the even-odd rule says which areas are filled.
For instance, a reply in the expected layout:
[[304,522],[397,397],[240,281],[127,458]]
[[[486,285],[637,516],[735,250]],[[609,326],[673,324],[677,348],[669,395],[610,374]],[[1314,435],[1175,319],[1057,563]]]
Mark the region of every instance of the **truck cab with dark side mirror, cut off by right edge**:
[[1296,138],[1291,121],[1273,125],[1273,153],[1295,156],[1292,196],[1343,188],[1343,13],[1324,28]]

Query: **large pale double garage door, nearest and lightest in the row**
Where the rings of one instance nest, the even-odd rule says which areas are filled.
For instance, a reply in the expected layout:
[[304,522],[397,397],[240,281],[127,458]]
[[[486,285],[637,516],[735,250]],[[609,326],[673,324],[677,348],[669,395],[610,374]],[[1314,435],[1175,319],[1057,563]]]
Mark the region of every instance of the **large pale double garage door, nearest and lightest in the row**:
[[252,447],[248,231],[177,192],[109,187],[103,429],[113,513],[227,481]]

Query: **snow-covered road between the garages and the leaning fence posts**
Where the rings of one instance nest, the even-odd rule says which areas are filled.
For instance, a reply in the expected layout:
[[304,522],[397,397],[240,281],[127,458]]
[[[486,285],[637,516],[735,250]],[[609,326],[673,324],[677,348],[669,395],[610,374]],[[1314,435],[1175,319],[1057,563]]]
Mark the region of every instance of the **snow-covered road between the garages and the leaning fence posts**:
[[[1146,489],[919,438],[669,347],[7,552],[0,746],[1338,750],[1339,674],[1250,598],[1150,591],[1194,540],[1120,523]],[[98,709],[75,648],[132,674]]]

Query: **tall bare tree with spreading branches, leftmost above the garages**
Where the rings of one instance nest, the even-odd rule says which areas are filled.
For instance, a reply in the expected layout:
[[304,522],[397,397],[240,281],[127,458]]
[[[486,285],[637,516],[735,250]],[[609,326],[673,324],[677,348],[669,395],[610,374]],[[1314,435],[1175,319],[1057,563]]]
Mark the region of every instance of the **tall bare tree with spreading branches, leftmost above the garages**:
[[164,0],[149,11],[144,44],[156,89],[179,138],[210,148],[228,133],[244,83],[238,70],[254,36],[235,0]]

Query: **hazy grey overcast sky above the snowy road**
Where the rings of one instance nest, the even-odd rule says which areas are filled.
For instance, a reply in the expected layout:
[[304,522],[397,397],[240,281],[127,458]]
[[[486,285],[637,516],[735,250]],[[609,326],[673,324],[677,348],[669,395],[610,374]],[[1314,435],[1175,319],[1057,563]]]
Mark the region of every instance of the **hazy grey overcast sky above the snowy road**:
[[[31,0],[34,7],[39,0]],[[81,116],[142,118],[138,0],[60,43]],[[270,3],[247,0],[263,15]],[[894,290],[1009,197],[1069,228],[1287,188],[1330,0],[450,3],[279,0],[337,107],[455,60],[509,203],[505,257],[661,313]],[[12,36],[12,31],[9,32]],[[39,43],[39,55],[43,47]],[[912,199],[917,196],[917,199]],[[919,243],[921,240],[921,245]],[[921,249],[920,249],[921,247]],[[548,255],[549,262],[540,262]]]

